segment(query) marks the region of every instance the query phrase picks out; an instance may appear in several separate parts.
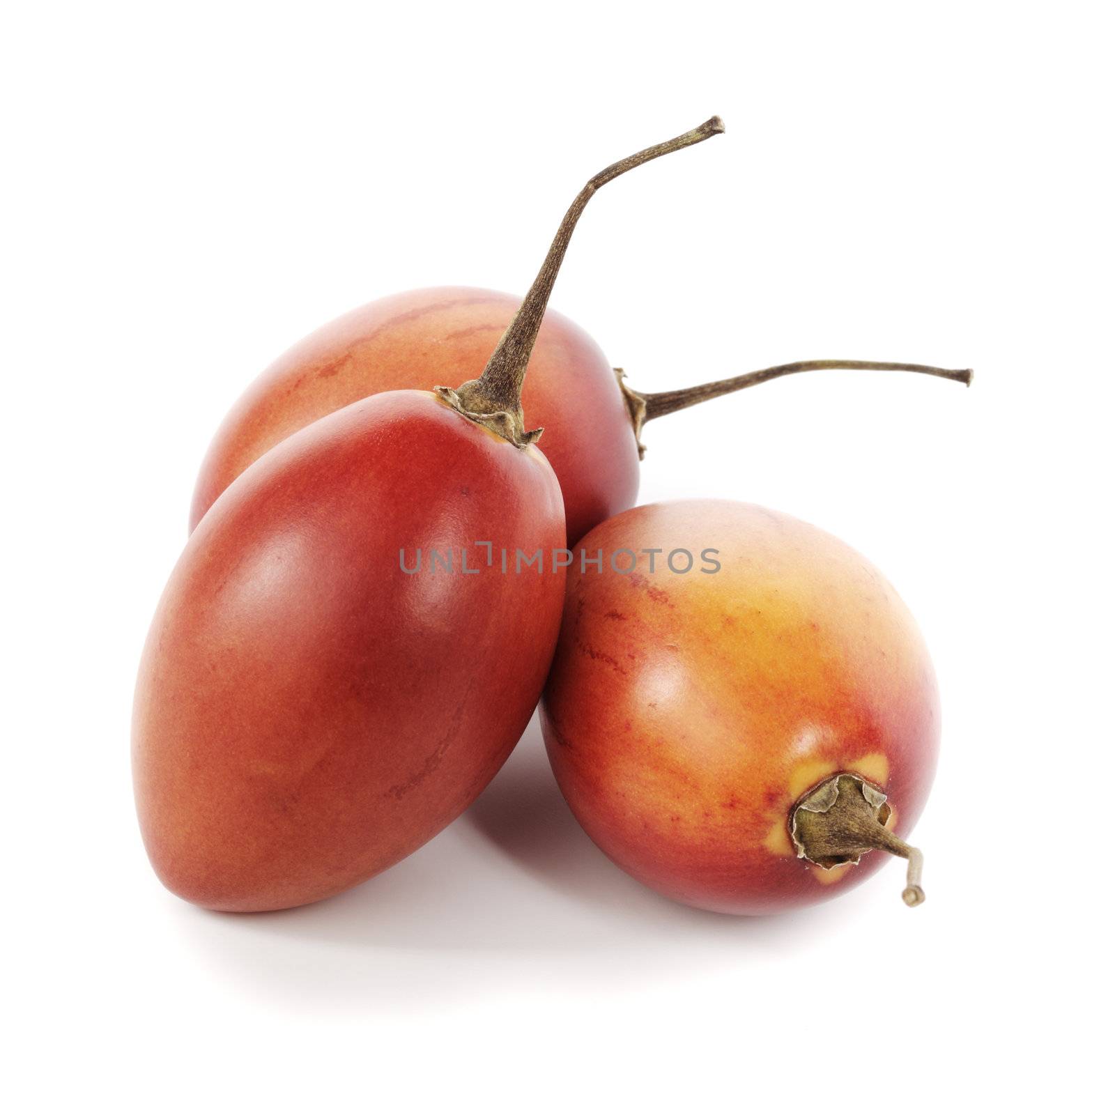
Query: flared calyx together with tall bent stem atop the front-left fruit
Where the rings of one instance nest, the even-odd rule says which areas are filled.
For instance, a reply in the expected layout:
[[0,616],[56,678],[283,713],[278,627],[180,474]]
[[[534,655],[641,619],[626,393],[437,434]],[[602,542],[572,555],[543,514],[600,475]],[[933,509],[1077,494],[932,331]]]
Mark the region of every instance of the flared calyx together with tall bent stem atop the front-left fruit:
[[523,377],[526,375],[526,365],[531,359],[539,329],[542,327],[542,318],[546,312],[546,303],[550,301],[558,271],[565,258],[565,249],[569,248],[573,229],[585,205],[592,195],[612,178],[618,178],[621,174],[662,155],[702,143],[721,132],[724,122],[719,116],[714,116],[691,132],[629,155],[589,178],[565,213],[534,284],[500,339],[484,371],[479,378],[469,379],[456,390],[450,387],[435,387],[434,390],[442,399],[465,418],[486,426],[512,445],[525,448],[536,442],[542,434],[541,428],[529,430],[523,421],[523,407],[520,403]]

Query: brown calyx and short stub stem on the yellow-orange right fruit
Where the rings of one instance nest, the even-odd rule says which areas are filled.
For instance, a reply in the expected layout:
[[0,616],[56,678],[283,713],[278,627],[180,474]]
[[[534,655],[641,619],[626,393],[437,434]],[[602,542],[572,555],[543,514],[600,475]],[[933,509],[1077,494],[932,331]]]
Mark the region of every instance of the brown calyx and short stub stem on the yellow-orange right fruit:
[[922,855],[886,827],[886,795],[856,774],[836,774],[809,791],[789,815],[789,835],[799,859],[818,867],[859,863],[866,852],[890,852],[908,861],[902,901],[921,905]]

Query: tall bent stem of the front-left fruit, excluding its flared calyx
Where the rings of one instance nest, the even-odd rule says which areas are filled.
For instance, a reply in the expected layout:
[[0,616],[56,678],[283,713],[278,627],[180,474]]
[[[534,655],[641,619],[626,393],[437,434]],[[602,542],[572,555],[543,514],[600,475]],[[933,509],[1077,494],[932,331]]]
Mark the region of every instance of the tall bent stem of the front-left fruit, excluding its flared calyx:
[[694,144],[719,135],[721,132],[724,132],[724,123],[719,116],[714,116],[685,135],[648,147],[646,151],[640,151],[613,163],[585,183],[584,188],[576,195],[562,220],[534,284],[479,377],[484,395],[493,406],[512,413],[518,407],[523,377],[526,375],[526,363],[531,358],[531,350],[534,348],[535,338],[542,326],[550,292],[553,290],[554,280],[558,278],[558,271],[565,256],[565,249],[573,235],[573,229],[592,195],[612,178],[618,178],[621,174],[626,174],[637,166],[642,166],[643,163],[649,163],[651,159],[681,151],[685,147],[691,147]]

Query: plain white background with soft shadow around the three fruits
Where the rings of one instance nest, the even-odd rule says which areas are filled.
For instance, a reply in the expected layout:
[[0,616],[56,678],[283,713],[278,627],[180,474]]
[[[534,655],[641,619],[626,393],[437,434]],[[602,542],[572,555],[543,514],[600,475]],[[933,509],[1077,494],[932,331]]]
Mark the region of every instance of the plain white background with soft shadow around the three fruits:
[[[921,1111],[1097,1101],[1109,1020],[1112,196],[1104,6],[25,4],[4,18],[4,901],[17,1112]],[[917,842],[736,920],[580,832],[536,726],[331,902],[164,892],[128,773],[143,637],[223,413],[396,290],[523,291],[640,388],[798,358],[648,429],[641,498],[796,514],[938,666]],[[706,433],[710,432],[710,433]],[[543,442],[544,448],[544,442]],[[1107,830],[1109,833],[1109,830]],[[1106,927],[1106,928],[1105,928]],[[1106,1092],[1106,1088],[1104,1089]]]

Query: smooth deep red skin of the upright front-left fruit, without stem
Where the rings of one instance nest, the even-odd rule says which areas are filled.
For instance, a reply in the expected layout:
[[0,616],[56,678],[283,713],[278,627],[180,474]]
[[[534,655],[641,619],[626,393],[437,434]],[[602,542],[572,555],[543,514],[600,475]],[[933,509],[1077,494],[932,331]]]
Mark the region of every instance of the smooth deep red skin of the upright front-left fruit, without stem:
[[[191,536],[139,668],[136,802],[166,886],[300,905],[453,821],[526,726],[561,620],[564,578],[505,575],[501,549],[564,537],[545,457],[429,392],[353,404],[246,469]],[[453,546],[454,572],[404,572],[417,546]]]

